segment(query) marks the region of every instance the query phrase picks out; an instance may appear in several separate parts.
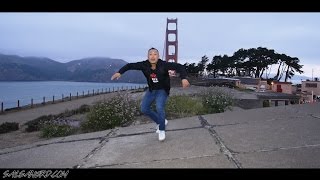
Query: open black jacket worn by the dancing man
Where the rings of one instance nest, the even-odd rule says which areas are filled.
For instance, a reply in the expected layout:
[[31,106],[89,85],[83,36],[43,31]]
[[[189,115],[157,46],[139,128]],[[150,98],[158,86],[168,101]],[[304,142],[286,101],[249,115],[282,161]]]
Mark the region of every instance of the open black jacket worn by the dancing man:
[[[187,71],[185,69],[185,66],[179,63],[166,62],[159,59],[156,67],[157,67],[156,72],[157,72],[159,83],[161,83],[161,85],[164,87],[164,90],[167,92],[168,95],[170,93],[170,77],[169,77],[168,70],[175,70],[177,73],[180,74],[181,79],[187,78]],[[152,91],[152,83],[150,78],[151,63],[149,62],[149,60],[145,60],[137,63],[128,63],[125,66],[123,66],[118,72],[120,74],[123,74],[128,70],[141,70],[144,76],[147,78],[149,91]]]

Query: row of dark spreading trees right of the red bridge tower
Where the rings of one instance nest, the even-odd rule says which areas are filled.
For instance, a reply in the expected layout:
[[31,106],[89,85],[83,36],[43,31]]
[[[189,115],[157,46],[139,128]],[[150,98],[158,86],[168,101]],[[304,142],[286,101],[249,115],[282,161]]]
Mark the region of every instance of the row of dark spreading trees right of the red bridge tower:
[[[273,49],[264,47],[239,49],[232,56],[217,55],[209,62],[206,55],[196,63],[184,64],[187,72],[194,76],[250,76],[254,78],[272,79],[280,81],[284,77],[287,82],[295,73],[303,73],[300,60],[286,54],[280,54]],[[270,76],[272,68],[276,68],[276,74]]]

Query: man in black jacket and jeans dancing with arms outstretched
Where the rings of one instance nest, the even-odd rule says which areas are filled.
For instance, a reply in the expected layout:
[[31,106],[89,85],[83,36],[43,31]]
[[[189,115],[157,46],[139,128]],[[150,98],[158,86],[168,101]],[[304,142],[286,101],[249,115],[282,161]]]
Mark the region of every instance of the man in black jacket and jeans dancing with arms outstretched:
[[[149,90],[146,91],[141,103],[141,112],[149,116],[157,124],[157,133],[159,133],[159,141],[165,139],[165,105],[170,93],[170,77],[169,70],[176,70],[180,73],[182,87],[190,86],[187,78],[185,67],[178,63],[166,62],[159,59],[159,51],[155,48],[148,50],[148,60],[128,63],[115,73],[111,80],[119,79],[120,76],[128,70],[140,70],[147,78]],[[152,102],[156,102],[156,110],[151,109]]]

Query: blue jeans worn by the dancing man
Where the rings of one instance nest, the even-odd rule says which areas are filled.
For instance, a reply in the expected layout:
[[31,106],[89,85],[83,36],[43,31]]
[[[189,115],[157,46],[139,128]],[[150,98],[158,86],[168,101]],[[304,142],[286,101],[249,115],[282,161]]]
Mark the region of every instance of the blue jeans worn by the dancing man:
[[[147,90],[141,103],[141,112],[159,124],[159,130],[161,131],[165,130],[165,106],[167,98],[168,94],[163,89],[152,90],[152,92]],[[157,112],[151,109],[151,104],[154,100],[156,101]]]

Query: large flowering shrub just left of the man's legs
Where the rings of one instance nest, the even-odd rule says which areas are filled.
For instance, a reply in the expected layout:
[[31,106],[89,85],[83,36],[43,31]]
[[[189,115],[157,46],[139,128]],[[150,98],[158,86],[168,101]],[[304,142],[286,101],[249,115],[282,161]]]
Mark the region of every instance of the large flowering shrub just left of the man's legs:
[[129,98],[128,93],[118,92],[115,97],[95,104],[81,123],[85,132],[101,131],[131,122],[137,114],[137,103]]

